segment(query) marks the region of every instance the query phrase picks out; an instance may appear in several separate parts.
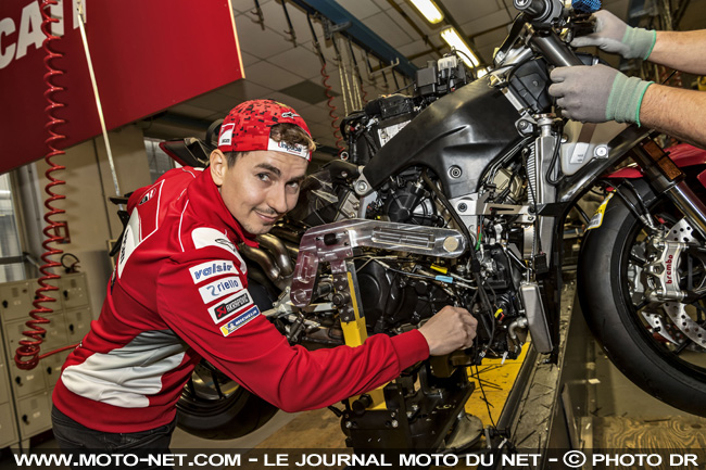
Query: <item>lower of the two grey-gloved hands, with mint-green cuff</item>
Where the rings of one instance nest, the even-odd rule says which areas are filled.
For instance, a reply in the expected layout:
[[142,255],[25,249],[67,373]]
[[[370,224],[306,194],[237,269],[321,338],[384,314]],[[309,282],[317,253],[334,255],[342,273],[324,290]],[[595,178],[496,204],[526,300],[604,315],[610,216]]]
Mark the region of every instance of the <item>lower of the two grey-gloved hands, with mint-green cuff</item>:
[[583,123],[636,123],[647,87],[653,81],[628,78],[606,65],[559,67],[550,75],[549,92],[565,117]]

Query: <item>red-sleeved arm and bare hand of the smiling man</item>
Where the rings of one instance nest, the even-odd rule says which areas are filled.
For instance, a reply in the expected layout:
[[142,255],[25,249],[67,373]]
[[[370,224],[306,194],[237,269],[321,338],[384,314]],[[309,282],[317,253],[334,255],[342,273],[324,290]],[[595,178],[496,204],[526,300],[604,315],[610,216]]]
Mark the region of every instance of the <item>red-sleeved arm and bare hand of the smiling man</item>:
[[[169,263],[162,269],[157,289],[162,317],[203,358],[286,411],[320,408],[367,392],[426,359],[430,347],[436,354],[444,347],[449,352],[468,347],[475,336],[476,320],[470,314],[446,307],[421,330],[393,338],[375,334],[358,347],[310,352],[291,346],[268,319],[252,310],[256,307],[245,289],[215,301],[202,298],[199,290],[219,279],[197,282],[189,269],[204,262],[217,264],[220,253],[218,249],[198,252],[199,259]],[[244,280],[243,275],[239,278]],[[234,285],[232,276],[222,279],[230,279]]]

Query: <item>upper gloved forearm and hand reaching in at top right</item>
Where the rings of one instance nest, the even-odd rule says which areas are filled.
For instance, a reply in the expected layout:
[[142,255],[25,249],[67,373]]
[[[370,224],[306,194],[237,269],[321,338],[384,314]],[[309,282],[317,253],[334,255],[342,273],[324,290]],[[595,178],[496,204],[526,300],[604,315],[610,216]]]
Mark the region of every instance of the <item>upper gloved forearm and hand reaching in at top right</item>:
[[595,31],[571,46],[597,47],[626,59],[643,59],[690,74],[706,74],[706,30],[654,31],[628,26],[607,10],[593,14]]

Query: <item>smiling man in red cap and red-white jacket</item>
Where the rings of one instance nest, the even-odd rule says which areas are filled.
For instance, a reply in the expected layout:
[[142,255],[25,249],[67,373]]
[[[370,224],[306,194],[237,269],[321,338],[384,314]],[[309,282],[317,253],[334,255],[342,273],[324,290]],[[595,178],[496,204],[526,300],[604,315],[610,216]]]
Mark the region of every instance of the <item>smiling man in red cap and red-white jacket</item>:
[[298,411],[471,345],[476,320],[451,306],[418,330],[315,352],[290,346],[261,315],[236,246],[255,246],[254,236],[294,207],[314,147],[294,110],[249,101],[226,117],[209,168],[173,169],[130,196],[100,318],[54,389],[63,449],[167,448],[176,403],[201,358]]

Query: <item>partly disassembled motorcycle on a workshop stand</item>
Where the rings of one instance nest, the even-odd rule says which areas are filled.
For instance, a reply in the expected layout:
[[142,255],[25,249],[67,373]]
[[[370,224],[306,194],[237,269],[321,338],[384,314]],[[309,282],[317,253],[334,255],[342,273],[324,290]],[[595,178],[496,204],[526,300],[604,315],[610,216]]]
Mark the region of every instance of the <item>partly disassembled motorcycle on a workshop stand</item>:
[[[469,366],[516,358],[528,333],[557,358],[564,221],[589,191],[607,195],[587,217],[578,262],[591,331],[640,388],[706,416],[706,157],[670,154],[645,128],[557,114],[552,67],[596,63],[568,46],[591,27],[592,3],[515,0],[487,76],[475,79],[452,54],[417,73],[412,96],[348,116],[348,161],[310,176],[260,249],[243,247],[253,295],[291,343],[361,344],[447,304],[478,318],[472,348],[333,408],[350,446],[458,448]],[[205,141],[162,148],[205,165],[217,125]],[[202,363],[178,410],[187,431],[232,439],[276,408]]]

